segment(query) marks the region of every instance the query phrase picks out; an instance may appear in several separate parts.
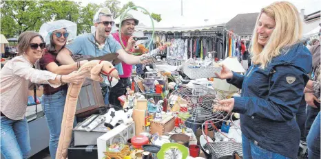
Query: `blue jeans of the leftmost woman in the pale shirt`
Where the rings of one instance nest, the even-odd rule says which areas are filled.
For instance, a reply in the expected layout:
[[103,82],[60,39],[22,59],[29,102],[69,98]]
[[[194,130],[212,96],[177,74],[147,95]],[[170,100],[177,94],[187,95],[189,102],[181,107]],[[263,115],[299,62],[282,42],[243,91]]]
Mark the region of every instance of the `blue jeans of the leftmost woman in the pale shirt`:
[[27,119],[1,116],[1,154],[4,158],[28,158],[31,151]]

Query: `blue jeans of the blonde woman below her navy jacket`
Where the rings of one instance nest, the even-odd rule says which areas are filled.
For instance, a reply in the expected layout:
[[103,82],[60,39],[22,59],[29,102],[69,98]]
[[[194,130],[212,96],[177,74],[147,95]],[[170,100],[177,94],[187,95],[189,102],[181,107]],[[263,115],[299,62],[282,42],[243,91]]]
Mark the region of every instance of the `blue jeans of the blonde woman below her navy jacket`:
[[245,137],[242,134],[242,151],[243,158],[245,159],[265,159],[265,158],[273,158],[273,159],[287,159],[288,157],[282,156],[280,154],[276,154],[267,149],[263,149],[256,145],[253,140],[249,140],[249,138]]

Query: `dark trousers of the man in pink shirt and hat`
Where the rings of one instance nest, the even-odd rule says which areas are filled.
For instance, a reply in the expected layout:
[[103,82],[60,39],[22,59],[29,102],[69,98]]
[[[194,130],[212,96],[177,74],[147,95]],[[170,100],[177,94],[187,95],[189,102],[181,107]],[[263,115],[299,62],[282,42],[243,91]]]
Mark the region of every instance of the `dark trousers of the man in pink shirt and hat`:
[[126,88],[130,87],[130,85],[129,77],[119,79],[118,83],[110,90],[110,104],[121,108],[121,101],[118,100],[118,97],[125,95],[127,91]]

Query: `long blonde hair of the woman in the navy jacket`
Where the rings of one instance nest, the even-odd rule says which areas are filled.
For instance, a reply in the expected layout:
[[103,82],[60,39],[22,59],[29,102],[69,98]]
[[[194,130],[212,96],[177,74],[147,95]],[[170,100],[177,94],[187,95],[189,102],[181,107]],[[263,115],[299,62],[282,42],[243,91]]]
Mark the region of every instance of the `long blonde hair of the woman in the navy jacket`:
[[[256,32],[262,13],[276,21],[276,27],[274,27],[265,46],[258,43]],[[251,60],[254,64],[261,64],[261,69],[265,69],[273,57],[280,55],[282,48],[296,44],[301,37],[302,21],[298,9],[287,1],[272,3],[266,8],[262,8],[256,20],[256,27],[253,30]]]

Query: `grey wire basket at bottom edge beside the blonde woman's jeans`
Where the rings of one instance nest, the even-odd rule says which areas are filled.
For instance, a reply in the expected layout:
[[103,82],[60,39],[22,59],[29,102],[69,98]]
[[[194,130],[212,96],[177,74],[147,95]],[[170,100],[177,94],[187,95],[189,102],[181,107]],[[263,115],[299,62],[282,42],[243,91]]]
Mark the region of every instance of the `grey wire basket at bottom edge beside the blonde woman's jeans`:
[[232,141],[206,143],[205,149],[209,150],[211,159],[231,157],[234,151],[236,151],[240,156],[243,156],[242,144],[234,143]]

